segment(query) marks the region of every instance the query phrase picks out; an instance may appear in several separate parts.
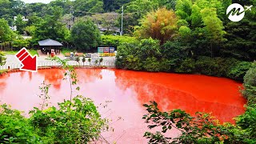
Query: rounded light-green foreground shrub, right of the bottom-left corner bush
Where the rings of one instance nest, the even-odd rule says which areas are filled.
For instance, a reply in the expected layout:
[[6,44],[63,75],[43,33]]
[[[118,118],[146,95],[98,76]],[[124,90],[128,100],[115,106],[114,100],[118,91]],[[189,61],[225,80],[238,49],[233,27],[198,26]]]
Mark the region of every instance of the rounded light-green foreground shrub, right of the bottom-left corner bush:
[[87,143],[99,138],[106,126],[94,103],[82,96],[30,114],[31,125],[46,143]]

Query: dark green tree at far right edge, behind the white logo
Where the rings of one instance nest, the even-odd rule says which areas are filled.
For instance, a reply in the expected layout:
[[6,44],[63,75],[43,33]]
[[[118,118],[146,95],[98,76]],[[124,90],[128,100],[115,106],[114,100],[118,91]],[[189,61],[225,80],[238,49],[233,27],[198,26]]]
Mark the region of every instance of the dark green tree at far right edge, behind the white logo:
[[225,38],[228,41],[225,42],[221,54],[223,57],[254,61],[256,58],[256,1],[241,1],[240,4],[253,5],[253,7],[251,10],[246,10],[245,17],[240,22],[231,22],[226,18]]

